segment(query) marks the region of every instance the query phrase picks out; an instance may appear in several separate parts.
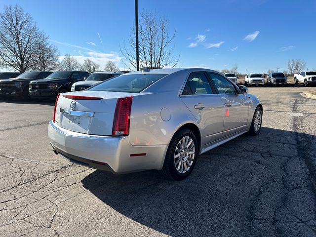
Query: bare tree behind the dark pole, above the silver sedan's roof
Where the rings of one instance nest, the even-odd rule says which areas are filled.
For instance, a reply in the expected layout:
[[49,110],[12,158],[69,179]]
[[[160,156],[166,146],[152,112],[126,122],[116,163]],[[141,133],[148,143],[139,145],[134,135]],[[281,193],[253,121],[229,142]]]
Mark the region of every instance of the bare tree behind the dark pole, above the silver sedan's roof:
[[[139,64],[140,68],[174,67],[179,62],[179,56],[173,56],[174,32],[169,35],[169,21],[165,17],[158,17],[156,12],[142,12],[139,21]],[[135,30],[132,28],[129,47],[123,41],[120,51],[127,61],[129,69],[136,68],[136,40]]]

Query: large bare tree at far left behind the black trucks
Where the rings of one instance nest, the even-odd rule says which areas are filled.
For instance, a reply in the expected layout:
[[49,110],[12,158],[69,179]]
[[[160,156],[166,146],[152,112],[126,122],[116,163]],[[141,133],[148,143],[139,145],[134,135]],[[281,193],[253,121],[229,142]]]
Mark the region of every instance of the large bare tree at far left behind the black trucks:
[[25,72],[36,63],[37,45],[45,42],[29,13],[15,5],[5,6],[0,13],[0,64]]

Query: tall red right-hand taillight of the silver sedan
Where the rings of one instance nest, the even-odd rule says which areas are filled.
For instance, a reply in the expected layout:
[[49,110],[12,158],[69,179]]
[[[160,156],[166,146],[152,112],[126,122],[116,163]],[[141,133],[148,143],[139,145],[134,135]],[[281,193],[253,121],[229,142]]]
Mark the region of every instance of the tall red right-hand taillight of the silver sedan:
[[113,136],[125,136],[129,134],[129,117],[133,97],[118,98],[113,120]]

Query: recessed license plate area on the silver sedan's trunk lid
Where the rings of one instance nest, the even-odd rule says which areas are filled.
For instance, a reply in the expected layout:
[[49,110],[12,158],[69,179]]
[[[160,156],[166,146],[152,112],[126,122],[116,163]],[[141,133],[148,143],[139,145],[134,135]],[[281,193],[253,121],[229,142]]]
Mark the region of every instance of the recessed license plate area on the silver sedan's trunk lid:
[[61,127],[75,132],[88,132],[93,117],[92,112],[60,109]]

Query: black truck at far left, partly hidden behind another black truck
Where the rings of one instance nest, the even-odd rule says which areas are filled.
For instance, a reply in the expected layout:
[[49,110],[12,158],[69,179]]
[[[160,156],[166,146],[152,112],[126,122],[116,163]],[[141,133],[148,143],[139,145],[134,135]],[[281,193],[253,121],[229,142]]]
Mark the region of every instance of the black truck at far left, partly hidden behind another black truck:
[[25,72],[16,78],[0,80],[0,95],[4,99],[13,97],[23,97],[29,99],[29,83],[31,80],[42,79],[49,76],[52,72]]

